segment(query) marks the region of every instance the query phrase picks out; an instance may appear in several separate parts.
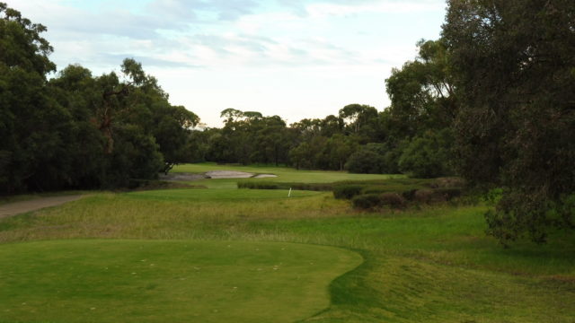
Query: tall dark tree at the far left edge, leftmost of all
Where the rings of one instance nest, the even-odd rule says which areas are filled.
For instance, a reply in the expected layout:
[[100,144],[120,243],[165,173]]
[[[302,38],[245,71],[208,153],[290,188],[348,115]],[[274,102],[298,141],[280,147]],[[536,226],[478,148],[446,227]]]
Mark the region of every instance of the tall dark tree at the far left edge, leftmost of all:
[[[49,189],[62,156],[70,116],[46,91],[46,74],[56,65],[41,24],[0,3],[0,192]],[[44,171],[40,171],[44,170]]]

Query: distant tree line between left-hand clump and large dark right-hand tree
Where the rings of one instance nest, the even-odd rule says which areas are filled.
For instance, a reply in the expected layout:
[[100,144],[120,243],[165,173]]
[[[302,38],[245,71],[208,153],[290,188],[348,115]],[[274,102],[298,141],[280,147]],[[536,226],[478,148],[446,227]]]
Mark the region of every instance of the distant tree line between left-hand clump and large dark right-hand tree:
[[196,161],[272,163],[314,170],[455,174],[451,125],[458,105],[443,40],[421,40],[419,56],[386,80],[384,111],[349,104],[337,115],[291,125],[279,116],[224,109],[222,128],[194,132]]

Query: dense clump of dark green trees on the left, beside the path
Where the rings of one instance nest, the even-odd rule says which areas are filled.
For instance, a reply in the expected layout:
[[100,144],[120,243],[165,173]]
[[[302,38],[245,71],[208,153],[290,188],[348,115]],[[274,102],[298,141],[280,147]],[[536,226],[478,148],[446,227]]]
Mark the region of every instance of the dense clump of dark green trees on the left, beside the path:
[[127,58],[98,77],[69,65],[48,81],[44,31],[0,3],[0,194],[125,187],[190,162],[199,118],[142,65]]

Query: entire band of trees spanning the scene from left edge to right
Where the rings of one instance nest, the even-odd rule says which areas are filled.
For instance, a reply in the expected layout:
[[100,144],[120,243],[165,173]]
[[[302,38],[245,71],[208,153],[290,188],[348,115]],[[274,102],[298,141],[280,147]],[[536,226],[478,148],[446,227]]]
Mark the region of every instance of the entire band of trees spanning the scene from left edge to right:
[[[45,27],[0,4],[0,191],[105,188],[178,162],[457,175],[490,191],[488,231],[544,241],[575,229],[575,2],[449,0],[441,37],[385,80],[391,105],[291,125],[225,109],[222,128],[174,107],[133,59],[56,77]],[[495,192],[495,193],[494,193]]]

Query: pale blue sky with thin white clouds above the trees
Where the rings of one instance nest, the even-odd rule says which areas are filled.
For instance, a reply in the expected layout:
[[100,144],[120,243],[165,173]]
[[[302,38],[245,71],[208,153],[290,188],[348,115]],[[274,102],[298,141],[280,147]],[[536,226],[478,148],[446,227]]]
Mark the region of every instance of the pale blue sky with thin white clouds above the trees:
[[4,0],[54,47],[58,70],[126,57],[208,127],[227,108],[289,123],[351,103],[383,110],[385,79],[438,39],[444,0]]

